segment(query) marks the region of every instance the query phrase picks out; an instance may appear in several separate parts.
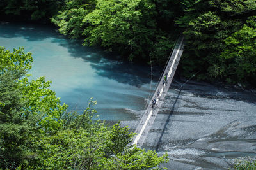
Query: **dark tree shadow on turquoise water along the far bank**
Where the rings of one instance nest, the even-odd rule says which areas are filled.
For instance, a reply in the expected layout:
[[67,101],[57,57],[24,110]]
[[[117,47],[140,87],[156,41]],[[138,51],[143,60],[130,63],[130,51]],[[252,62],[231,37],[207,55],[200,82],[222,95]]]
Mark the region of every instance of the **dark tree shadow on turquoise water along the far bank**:
[[[99,48],[83,46],[83,40],[68,39],[56,31],[55,27],[41,24],[0,22],[0,37],[22,37],[27,41],[43,41],[52,38],[52,43],[67,48],[72,57],[89,62],[99,76],[106,77],[136,87],[150,83],[150,67],[136,65],[120,60],[118,55],[104,52]],[[21,45],[22,46],[22,45]],[[18,48],[18,47],[17,47]]]

